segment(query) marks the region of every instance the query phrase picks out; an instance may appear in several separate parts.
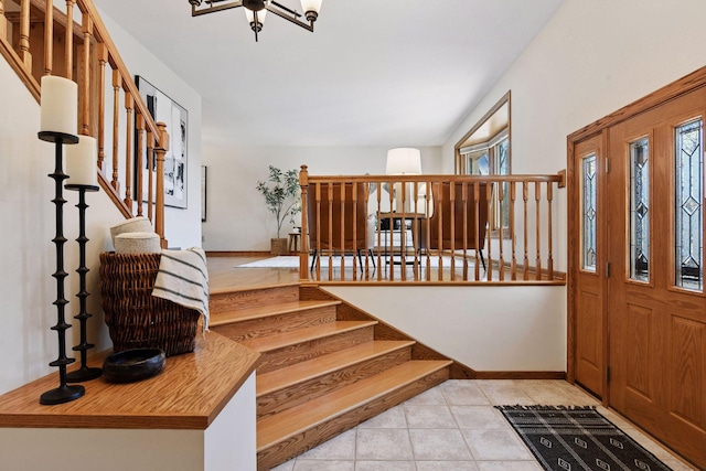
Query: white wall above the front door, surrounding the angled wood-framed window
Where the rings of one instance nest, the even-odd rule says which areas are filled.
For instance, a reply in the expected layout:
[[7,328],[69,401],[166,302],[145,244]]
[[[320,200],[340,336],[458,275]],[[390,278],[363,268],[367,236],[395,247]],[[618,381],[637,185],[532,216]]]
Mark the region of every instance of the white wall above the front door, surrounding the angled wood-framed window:
[[[510,89],[514,173],[566,168],[566,137],[706,65],[703,0],[567,0],[443,146]],[[566,191],[556,195],[557,269],[566,269]]]

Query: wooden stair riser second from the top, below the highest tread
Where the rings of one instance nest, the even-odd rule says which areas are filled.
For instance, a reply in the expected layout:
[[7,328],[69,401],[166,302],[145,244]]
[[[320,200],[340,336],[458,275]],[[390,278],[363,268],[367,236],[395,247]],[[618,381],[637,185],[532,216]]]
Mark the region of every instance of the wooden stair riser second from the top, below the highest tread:
[[236,342],[335,321],[335,307],[306,309],[261,319],[217,325],[212,330]]

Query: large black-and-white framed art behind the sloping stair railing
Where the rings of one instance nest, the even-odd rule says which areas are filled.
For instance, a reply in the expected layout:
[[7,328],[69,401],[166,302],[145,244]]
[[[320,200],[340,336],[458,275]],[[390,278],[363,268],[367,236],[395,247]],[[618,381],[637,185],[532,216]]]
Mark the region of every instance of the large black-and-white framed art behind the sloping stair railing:
[[[164,205],[185,210],[189,190],[189,113],[143,77],[136,76],[135,83],[154,121],[164,122],[169,132],[170,146],[164,154]],[[156,172],[157,164],[154,161],[152,163],[152,171]],[[142,185],[142,194],[147,195],[149,162],[145,156],[142,165],[142,182],[139,184]],[[147,196],[145,199],[147,201]]]

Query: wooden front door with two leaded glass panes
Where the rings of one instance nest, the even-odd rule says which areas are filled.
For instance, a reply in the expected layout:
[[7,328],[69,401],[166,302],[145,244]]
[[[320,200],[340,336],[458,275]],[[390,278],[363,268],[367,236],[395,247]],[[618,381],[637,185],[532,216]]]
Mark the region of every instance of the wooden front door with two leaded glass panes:
[[706,468],[706,89],[611,126],[608,403]]

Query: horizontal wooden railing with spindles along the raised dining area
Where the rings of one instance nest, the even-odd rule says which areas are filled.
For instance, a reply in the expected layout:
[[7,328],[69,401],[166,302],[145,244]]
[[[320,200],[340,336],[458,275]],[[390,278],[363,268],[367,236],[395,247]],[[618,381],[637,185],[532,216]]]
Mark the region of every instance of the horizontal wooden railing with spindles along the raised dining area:
[[300,184],[302,280],[565,282],[554,268],[561,174],[313,176],[302,165]]

